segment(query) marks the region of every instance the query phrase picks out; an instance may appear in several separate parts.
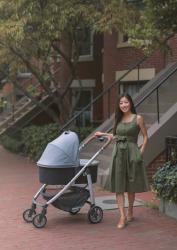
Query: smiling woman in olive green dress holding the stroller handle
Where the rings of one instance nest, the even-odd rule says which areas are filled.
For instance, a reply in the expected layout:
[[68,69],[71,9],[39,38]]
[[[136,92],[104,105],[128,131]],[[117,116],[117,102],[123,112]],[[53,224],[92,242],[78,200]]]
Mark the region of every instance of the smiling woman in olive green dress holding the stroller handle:
[[[143,143],[137,145],[138,134],[141,131]],[[117,227],[122,229],[126,222],[133,221],[133,204],[135,193],[149,190],[148,181],[143,167],[144,153],[148,136],[143,117],[136,114],[132,98],[128,94],[120,96],[115,111],[113,134],[96,132],[96,136],[108,135],[115,140],[112,163],[105,188],[116,193],[120,220]],[[128,193],[128,213],[125,214],[125,196]]]

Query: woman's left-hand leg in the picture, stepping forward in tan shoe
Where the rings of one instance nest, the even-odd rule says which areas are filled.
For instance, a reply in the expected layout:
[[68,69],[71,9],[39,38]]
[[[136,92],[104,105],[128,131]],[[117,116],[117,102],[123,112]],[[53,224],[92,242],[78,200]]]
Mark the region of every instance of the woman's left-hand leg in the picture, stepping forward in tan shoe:
[[124,193],[117,193],[116,194],[117,205],[120,210],[120,221],[117,225],[118,228],[125,227],[126,216],[125,216],[125,196]]

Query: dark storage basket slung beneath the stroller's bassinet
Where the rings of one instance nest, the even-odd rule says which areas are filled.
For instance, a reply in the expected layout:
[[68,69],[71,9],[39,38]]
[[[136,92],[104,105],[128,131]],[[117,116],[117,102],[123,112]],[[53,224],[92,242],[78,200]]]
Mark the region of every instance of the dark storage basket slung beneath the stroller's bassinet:
[[[55,194],[43,192],[42,196],[45,200],[50,200]],[[87,189],[81,187],[71,187],[66,193],[52,202],[52,205],[66,212],[79,210],[88,200],[90,193]]]

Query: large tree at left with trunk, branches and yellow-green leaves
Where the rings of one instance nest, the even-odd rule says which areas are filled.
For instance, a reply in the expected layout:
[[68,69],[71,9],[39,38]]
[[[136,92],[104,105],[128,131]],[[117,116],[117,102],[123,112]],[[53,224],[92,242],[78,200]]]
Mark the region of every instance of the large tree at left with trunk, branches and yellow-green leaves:
[[[124,30],[132,20],[134,8],[122,0],[0,0],[0,64],[9,65],[7,78],[16,88],[63,124],[72,112],[71,83],[79,80],[78,30]],[[24,66],[56,104],[57,115],[19,83]]]

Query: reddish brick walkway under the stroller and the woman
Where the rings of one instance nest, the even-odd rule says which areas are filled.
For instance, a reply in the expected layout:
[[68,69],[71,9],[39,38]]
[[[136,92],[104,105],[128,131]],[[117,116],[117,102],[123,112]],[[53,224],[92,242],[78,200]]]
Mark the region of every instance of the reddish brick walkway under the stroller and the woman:
[[[75,216],[50,206],[46,227],[34,228],[23,221],[22,213],[40,186],[37,167],[1,147],[0,159],[1,250],[177,249],[177,221],[144,206],[135,208],[136,220],[123,230],[116,229],[118,210],[104,211],[102,223],[90,224],[87,205]],[[149,197],[149,193],[138,196]]]

